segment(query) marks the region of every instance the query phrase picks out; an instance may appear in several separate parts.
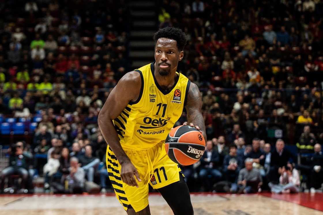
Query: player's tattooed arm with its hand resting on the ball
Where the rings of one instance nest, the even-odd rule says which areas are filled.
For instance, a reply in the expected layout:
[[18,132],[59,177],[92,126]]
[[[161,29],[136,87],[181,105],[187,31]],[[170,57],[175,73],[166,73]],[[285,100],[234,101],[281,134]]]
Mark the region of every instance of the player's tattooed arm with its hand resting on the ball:
[[205,124],[202,115],[202,98],[200,90],[195,83],[191,83],[190,85],[185,108],[187,111],[188,122],[184,122],[183,125],[189,124],[190,126],[200,130],[206,142]]

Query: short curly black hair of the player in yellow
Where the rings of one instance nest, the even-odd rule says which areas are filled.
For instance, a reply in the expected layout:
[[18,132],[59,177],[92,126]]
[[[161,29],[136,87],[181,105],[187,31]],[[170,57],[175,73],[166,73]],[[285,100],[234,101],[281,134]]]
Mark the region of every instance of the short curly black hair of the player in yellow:
[[160,28],[153,37],[155,44],[157,43],[157,40],[159,38],[168,38],[175,40],[179,51],[184,50],[184,46],[187,41],[186,34],[181,29],[174,27]]

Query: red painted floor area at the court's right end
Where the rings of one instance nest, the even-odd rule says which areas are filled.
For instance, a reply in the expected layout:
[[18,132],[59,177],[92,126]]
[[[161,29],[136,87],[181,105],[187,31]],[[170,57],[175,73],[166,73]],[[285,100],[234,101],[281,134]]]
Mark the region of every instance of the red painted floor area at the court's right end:
[[323,193],[295,193],[295,194],[275,194],[261,193],[260,195],[276,200],[292,202],[307,208],[323,211]]

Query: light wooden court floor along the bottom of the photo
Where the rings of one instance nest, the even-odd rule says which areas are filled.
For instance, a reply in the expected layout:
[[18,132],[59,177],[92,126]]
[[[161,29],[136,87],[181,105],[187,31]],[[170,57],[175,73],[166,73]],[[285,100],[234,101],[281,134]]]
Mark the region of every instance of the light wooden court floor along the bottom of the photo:
[[[191,200],[196,215],[323,215],[320,211],[323,194],[302,195],[191,194]],[[302,199],[305,199],[304,205],[309,203],[308,207],[300,205]],[[172,214],[159,194],[150,195],[149,202],[151,214]],[[126,212],[112,195],[0,195],[0,215],[34,214],[116,215]]]

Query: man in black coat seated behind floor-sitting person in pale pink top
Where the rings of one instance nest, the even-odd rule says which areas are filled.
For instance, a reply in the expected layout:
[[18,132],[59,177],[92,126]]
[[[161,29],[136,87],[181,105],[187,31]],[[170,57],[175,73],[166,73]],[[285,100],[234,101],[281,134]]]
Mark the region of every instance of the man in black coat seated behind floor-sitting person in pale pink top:
[[276,141],[276,150],[271,154],[270,161],[270,181],[277,182],[282,173],[282,167],[287,166],[290,160],[295,161],[294,156],[284,148],[285,143],[282,139]]

